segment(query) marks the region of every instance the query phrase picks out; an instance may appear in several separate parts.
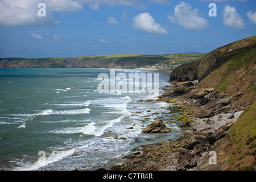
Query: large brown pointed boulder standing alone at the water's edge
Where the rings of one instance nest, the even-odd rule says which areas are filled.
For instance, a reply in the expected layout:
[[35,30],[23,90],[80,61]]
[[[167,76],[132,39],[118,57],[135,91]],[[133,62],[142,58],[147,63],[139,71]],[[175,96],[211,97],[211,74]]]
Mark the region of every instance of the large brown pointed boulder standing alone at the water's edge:
[[142,133],[168,133],[170,131],[171,130],[164,125],[163,120],[158,119],[142,130]]

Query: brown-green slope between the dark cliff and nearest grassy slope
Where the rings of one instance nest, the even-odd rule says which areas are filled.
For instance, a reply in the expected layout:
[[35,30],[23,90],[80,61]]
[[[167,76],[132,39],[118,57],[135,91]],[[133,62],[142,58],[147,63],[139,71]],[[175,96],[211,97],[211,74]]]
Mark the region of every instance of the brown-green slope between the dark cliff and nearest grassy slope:
[[236,97],[235,105],[249,106],[256,100],[256,44],[227,52],[220,59],[228,61],[205,77],[198,88],[213,87],[220,97]]

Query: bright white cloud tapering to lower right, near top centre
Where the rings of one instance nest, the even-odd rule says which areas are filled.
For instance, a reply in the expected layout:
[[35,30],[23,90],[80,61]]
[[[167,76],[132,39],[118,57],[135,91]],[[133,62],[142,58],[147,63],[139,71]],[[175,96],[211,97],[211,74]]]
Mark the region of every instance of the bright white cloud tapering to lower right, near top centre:
[[155,22],[149,13],[141,13],[133,18],[133,27],[153,34],[168,34],[168,32]]

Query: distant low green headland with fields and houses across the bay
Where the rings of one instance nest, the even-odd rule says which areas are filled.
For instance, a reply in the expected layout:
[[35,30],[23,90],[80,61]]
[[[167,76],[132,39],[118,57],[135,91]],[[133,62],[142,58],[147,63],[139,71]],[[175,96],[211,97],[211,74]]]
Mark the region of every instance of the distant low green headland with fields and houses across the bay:
[[[92,55],[59,58],[1,58],[0,68],[140,68],[156,64],[163,68],[176,68],[198,60],[205,53],[175,55]],[[171,66],[171,67],[170,67]]]

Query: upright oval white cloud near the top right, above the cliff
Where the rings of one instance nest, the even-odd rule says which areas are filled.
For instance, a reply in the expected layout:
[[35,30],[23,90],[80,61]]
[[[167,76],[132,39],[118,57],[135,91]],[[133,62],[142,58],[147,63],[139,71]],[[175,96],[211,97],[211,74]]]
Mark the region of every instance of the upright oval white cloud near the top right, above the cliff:
[[240,14],[237,13],[237,10],[234,7],[226,5],[224,10],[222,11],[223,23],[226,26],[243,29],[245,28],[245,24],[243,23],[243,19]]

